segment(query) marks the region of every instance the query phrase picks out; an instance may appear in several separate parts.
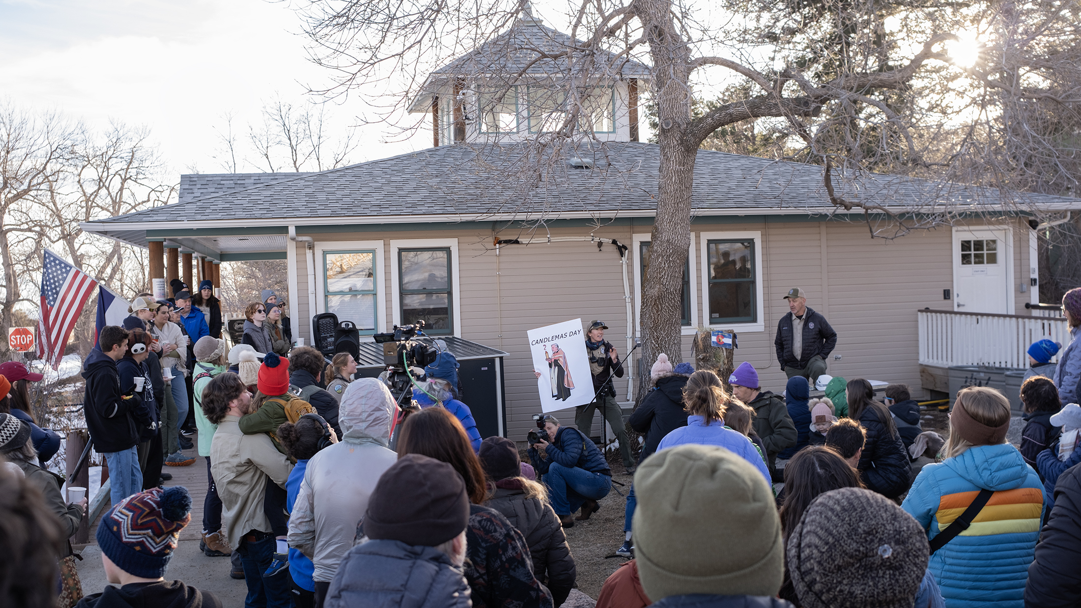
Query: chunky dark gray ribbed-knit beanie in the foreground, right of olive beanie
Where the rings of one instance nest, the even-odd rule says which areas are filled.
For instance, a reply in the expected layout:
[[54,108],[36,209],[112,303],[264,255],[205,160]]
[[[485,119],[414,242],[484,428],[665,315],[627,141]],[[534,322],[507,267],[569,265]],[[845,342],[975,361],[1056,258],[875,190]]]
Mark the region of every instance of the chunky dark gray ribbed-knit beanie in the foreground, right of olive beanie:
[[927,569],[923,527],[863,488],[819,495],[788,536],[788,573],[803,608],[911,608]]

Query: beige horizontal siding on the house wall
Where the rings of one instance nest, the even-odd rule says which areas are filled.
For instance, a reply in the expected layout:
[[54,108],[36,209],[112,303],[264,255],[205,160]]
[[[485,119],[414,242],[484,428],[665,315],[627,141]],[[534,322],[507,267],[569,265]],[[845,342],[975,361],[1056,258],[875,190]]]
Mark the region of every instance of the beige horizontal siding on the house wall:
[[[1014,229],[1015,283],[1027,278],[1027,226]],[[943,289],[952,288],[951,231],[943,228],[913,232],[894,240],[871,240],[867,227],[844,221],[768,221],[738,224],[695,224],[695,260],[692,281],[700,283],[702,232],[760,231],[762,233],[764,330],[739,334],[736,362],[749,361],[758,368],[762,386],[780,392],[785,374],[776,362],[773,339],[778,320],[788,312],[782,296],[791,287],[808,293],[808,305],[827,316],[838,332],[837,350],[842,359],[828,361],[829,374],[845,378],[865,377],[908,383],[920,390],[918,362],[917,309],[951,308],[943,300]],[[588,227],[555,228],[552,238],[614,238],[630,244],[632,234],[648,232],[648,227],[613,227],[591,231]],[[303,229],[298,230],[302,234]],[[536,382],[529,357],[525,332],[568,319],[605,321],[605,338],[625,352],[628,319],[624,303],[623,272],[615,248],[602,251],[589,242],[553,242],[531,245],[505,245],[499,255],[491,247],[492,234],[478,229],[410,230],[389,233],[311,233],[317,241],[384,240],[384,307],[381,315],[392,323],[391,264],[397,264],[391,240],[457,239],[461,297],[458,334],[467,339],[504,350],[507,435],[521,440],[532,428],[531,416],[539,411]],[[502,237],[507,238],[504,233]],[[517,235],[516,237],[526,237]],[[633,265],[638,252],[628,253],[626,271],[631,295]],[[307,311],[307,270],[303,245],[297,247],[297,316],[310,319]],[[318,265],[317,265],[318,270]],[[1025,272],[1022,272],[1025,270]],[[1016,291],[1016,285],[1014,286]],[[698,317],[705,319],[708,294],[697,284]],[[1017,294],[1019,310],[1028,294]],[[305,323],[306,325],[306,323]],[[307,332],[307,329],[305,329]],[[691,356],[691,337],[683,338],[683,360]],[[675,357],[673,357],[675,359]],[[650,362],[652,363],[652,362]],[[632,364],[631,368],[637,369]],[[645,365],[649,368],[649,365]],[[626,400],[626,378],[616,383],[620,400]],[[573,411],[561,413],[565,423],[573,422]],[[600,417],[596,417],[599,421]],[[599,423],[599,422],[598,422]],[[599,427],[595,427],[599,429]]]

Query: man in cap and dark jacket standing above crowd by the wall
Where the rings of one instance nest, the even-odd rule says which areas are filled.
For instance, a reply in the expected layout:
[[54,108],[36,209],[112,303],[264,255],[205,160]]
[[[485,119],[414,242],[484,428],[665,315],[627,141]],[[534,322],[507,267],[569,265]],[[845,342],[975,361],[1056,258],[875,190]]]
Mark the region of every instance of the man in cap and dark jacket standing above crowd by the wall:
[[826,317],[808,308],[806,294],[792,287],[785,294],[789,313],[777,323],[777,363],[788,375],[803,376],[813,384],[826,373],[826,359],[837,346],[837,332]]

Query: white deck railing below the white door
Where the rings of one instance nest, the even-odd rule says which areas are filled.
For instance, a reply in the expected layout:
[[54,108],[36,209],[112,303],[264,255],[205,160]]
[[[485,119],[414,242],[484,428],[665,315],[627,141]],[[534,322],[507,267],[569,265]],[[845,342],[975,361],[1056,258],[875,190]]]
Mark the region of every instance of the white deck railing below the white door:
[[[920,364],[1028,367],[1028,347],[1050,338],[1070,342],[1066,319],[919,310]],[[1052,359],[1053,362],[1058,357]]]

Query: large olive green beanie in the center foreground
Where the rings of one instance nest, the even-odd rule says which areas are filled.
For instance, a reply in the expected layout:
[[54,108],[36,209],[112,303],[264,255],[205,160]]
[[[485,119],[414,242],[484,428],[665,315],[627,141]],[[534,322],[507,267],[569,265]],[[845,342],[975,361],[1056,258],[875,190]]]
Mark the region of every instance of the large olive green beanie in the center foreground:
[[762,473],[734,452],[686,444],[635,473],[635,557],[653,602],[669,595],[777,594],[780,519]]

